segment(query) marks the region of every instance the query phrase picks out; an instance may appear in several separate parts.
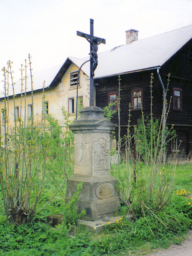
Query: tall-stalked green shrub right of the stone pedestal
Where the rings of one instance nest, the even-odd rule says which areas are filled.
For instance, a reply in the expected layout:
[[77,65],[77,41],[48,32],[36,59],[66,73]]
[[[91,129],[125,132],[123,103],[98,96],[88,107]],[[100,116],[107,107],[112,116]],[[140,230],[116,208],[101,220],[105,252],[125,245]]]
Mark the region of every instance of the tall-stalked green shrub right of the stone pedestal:
[[[170,74],[168,75],[166,92],[169,89]],[[150,81],[151,108],[150,117],[145,116],[141,102],[141,116],[138,125],[131,123],[131,103],[128,113],[128,130],[121,141],[125,148],[125,156],[122,154],[123,163],[116,170],[116,177],[119,177],[119,197],[134,216],[145,216],[148,208],[152,211],[163,211],[172,195],[172,188],[175,178],[175,163],[163,165],[163,151],[167,143],[174,138],[173,125],[167,129],[164,123],[169,114],[170,102],[165,101],[165,116],[160,122],[153,118],[153,73]],[[120,83],[120,81],[119,81]],[[136,143],[136,182],[134,180],[134,159],[132,142]],[[118,144],[119,145],[119,144]],[[120,169],[120,170],[119,170]],[[114,172],[113,172],[114,173]],[[119,176],[120,175],[120,176]],[[145,207],[146,206],[146,207]]]

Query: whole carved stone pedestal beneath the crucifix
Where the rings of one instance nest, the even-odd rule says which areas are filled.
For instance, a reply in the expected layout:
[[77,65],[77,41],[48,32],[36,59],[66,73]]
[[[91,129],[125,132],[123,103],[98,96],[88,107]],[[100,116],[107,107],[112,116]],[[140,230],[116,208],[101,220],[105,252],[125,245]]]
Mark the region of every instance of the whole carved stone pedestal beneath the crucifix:
[[74,176],[67,180],[70,200],[79,182],[82,183],[78,211],[86,210],[84,219],[98,220],[118,212],[117,180],[110,175],[110,133],[116,125],[106,120],[102,108],[86,107],[70,125],[74,133]]

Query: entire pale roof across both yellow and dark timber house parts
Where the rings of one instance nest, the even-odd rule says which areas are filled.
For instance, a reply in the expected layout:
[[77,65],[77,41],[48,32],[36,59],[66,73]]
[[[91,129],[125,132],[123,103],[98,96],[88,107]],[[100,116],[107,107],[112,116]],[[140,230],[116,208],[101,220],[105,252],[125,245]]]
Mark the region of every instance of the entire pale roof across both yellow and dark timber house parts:
[[[154,67],[162,67],[177,51],[179,51],[192,38],[192,25],[175,29],[160,35],[155,35],[142,40],[134,41],[128,45],[115,47],[111,50],[98,53],[98,66],[94,78],[114,76],[122,73],[131,73]],[[70,64],[80,67],[86,58],[68,57],[63,65],[34,72],[33,90],[42,89],[44,80],[45,87],[57,85]],[[90,63],[87,62],[81,70],[89,76]],[[30,79],[28,78],[28,83]],[[30,84],[30,83],[29,83]],[[31,85],[27,88],[31,91]],[[15,94],[20,93],[20,81],[16,82]],[[11,91],[9,95],[12,95]],[[0,91],[0,97],[2,91]]]

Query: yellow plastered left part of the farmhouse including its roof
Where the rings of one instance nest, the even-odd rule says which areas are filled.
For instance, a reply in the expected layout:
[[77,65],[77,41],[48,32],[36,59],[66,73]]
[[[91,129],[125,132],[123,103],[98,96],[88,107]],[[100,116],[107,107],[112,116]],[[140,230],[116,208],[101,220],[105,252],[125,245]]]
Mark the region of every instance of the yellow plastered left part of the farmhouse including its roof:
[[[38,126],[40,124],[42,116],[43,90],[46,103],[45,107],[47,109],[46,111],[58,120],[59,125],[62,127],[64,126],[64,116],[61,110],[63,107],[70,113],[70,119],[73,119],[75,117],[76,110],[75,99],[77,73],[79,70],[78,65],[79,59],[68,57],[62,65],[57,65],[32,73],[32,82],[29,74],[27,75],[27,79],[23,80],[22,85],[20,80],[16,81],[14,85],[16,122],[18,122],[17,120],[19,117],[23,119],[24,113],[26,113],[26,119],[29,120],[31,118],[33,108],[34,125]],[[78,97],[81,100],[81,105],[84,106],[88,106],[89,102],[89,80],[87,74],[81,71],[79,75]],[[0,88],[0,109],[6,108],[7,121],[10,124],[9,128],[11,128],[14,127],[15,122],[12,84],[9,84],[9,93],[8,84],[6,84],[6,103],[4,102],[5,89],[3,86]],[[25,92],[26,106],[24,102]],[[3,121],[3,113],[1,113],[1,120]],[[3,122],[1,123],[3,125]],[[1,131],[3,133],[3,128]]]

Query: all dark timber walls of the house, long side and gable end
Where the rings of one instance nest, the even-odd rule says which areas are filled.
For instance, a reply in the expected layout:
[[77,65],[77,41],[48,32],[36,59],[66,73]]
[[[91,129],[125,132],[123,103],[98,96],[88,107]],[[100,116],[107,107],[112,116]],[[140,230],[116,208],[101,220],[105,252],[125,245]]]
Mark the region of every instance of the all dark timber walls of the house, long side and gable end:
[[[172,58],[160,68],[160,76],[163,84],[167,86],[168,73],[171,73],[167,101],[172,99],[173,87],[182,89],[182,110],[174,110],[171,102],[167,124],[175,124],[179,140],[182,140],[180,150],[189,153],[192,129],[192,41],[180,49]],[[143,89],[143,112],[150,116],[150,80],[151,73],[153,79],[153,116],[160,119],[162,115],[163,90],[157,76],[157,70],[148,70],[123,74],[120,76],[120,125],[121,136],[126,134],[128,125],[128,105],[131,102],[131,90]],[[118,92],[118,76],[111,76],[102,79],[95,79],[96,84],[96,106],[104,108],[108,105],[108,93]],[[131,111],[130,125],[137,125],[137,120],[141,119],[141,110]],[[111,122],[118,124],[118,114],[114,114]],[[168,151],[170,145],[168,146]]]

